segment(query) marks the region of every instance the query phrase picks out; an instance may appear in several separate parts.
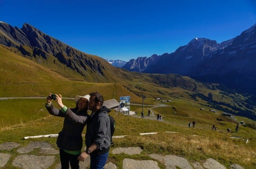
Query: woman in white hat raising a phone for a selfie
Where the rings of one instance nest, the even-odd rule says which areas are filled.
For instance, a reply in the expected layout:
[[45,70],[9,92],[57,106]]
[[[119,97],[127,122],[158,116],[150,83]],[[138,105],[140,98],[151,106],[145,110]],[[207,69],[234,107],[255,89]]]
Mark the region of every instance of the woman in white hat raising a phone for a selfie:
[[[52,104],[54,98],[61,110]],[[64,117],[63,129],[59,132],[57,146],[60,151],[61,169],[79,169],[77,157],[82,149],[82,131],[89,119],[87,114],[90,95],[76,96],[76,107],[69,109],[62,104],[61,95],[49,93],[46,98],[46,109],[54,116]],[[69,114],[69,116],[67,116]],[[72,120],[71,120],[71,119]]]

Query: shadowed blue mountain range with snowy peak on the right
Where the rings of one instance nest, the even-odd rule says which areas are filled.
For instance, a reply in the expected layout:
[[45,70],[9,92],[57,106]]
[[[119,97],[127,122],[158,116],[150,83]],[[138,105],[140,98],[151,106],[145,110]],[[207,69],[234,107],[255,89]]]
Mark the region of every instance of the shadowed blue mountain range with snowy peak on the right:
[[180,74],[256,94],[256,24],[217,43],[194,38],[173,53],[131,59],[123,68],[143,73]]

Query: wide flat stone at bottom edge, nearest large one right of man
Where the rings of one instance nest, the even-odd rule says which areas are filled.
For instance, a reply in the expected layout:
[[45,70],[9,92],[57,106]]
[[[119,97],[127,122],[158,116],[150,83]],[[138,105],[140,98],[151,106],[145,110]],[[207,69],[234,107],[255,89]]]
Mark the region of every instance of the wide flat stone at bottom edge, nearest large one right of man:
[[123,169],[159,169],[156,161],[153,160],[133,160],[125,158],[123,161]]

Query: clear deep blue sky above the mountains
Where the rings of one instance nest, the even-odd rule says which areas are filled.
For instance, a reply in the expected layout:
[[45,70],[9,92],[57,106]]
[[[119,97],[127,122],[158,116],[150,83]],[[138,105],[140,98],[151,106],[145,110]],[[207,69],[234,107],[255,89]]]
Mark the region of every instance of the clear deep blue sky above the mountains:
[[256,23],[255,0],[0,0],[0,21],[29,23],[85,53],[129,61],[218,43]]

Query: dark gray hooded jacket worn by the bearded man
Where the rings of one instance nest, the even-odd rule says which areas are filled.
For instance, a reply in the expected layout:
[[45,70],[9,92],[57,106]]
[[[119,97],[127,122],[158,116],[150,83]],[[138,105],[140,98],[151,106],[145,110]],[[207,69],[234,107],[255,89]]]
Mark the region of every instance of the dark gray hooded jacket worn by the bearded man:
[[110,121],[108,117],[108,108],[102,106],[87,123],[85,144],[91,146],[93,142],[97,145],[97,149],[92,154],[100,155],[109,151],[111,132]]

